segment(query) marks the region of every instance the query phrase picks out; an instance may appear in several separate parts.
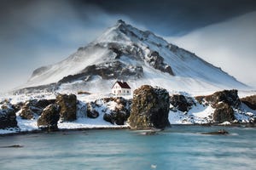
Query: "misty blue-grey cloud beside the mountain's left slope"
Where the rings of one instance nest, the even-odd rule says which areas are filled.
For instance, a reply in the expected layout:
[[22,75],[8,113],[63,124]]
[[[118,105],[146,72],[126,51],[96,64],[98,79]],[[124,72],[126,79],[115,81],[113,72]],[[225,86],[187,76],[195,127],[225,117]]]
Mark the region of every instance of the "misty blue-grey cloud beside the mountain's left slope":
[[2,92],[25,83],[34,69],[66,59],[120,18],[137,24],[89,3],[77,8],[68,1],[30,1],[2,8],[8,8],[0,17]]

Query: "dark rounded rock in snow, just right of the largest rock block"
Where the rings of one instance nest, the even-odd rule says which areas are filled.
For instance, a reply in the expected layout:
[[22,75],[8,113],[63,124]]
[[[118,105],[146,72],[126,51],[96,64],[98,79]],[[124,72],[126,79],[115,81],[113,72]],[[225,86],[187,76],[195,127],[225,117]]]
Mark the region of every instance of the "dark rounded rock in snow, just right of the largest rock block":
[[178,110],[178,111],[189,111],[191,105],[193,103],[189,102],[183,95],[173,94],[170,97],[170,103]]

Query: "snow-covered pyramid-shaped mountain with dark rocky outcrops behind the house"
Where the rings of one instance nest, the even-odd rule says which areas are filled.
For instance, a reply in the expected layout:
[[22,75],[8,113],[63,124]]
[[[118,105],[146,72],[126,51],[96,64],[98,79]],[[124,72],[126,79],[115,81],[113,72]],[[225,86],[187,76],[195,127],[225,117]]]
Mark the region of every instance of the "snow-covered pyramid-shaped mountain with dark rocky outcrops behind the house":
[[195,54],[123,20],[67,59],[33,71],[24,88],[106,94],[117,79],[131,88],[149,84],[191,93],[247,88]]

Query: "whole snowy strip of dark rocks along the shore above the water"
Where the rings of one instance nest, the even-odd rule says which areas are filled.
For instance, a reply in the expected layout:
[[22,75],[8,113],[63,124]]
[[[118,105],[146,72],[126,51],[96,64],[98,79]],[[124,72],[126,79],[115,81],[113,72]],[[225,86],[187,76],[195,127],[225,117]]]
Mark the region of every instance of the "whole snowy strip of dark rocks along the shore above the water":
[[0,107],[0,129],[8,130],[7,133],[26,131],[19,122],[26,122],[27,126],[34,123],[33,130],[43,131],[56,131],[72,123],[86,124],[89,120],[134,129],[163,129],[170,127],[170,122],[224,125],[256,122],[256,95],[239,99],[235,89],[189,97],[170,96],[166,89],[144,85],[134,91],[133,99],[108,97],[84,102],[75,94],[56,94],[55,99],[30,99],[15,104],[5,99]]

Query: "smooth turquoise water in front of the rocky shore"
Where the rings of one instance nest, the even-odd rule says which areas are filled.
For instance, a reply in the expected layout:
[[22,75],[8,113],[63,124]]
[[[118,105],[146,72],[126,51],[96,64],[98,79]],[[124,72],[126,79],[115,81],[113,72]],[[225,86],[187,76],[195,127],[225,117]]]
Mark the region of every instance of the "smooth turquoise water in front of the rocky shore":
[[[0,169],[255,169],[256,128],[172,126],[155,135],[88,130],[0,137]],[[22,148],[3,148],[20,144]]]

